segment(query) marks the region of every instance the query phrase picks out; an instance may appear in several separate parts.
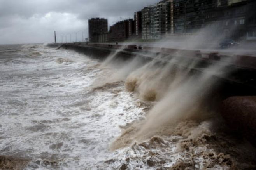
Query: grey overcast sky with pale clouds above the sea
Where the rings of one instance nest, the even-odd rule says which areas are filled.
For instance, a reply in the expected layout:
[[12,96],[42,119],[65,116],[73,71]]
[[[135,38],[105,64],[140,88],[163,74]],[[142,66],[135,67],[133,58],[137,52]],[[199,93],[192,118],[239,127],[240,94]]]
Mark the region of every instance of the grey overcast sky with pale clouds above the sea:
[[88,19],[105,17],[109,25],[159,0],[0,0],[0,44],[51,43],[88,36]]

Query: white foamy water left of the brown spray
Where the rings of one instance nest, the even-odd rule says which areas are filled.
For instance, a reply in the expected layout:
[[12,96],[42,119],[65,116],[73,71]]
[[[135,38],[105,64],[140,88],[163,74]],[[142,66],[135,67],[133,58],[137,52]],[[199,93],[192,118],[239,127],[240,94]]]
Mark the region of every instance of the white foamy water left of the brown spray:
[[31,158],[31,169],[54,168],[51,161],[63,169],[95,168],[112,158],[108,148],[119,125],[143,117],[142,108],[123,86],[119,94],[90,91],[104,71],[87,70],[97,61],[68,50],[35,51],[41,56],[24,50],[1,68],[1,154]]

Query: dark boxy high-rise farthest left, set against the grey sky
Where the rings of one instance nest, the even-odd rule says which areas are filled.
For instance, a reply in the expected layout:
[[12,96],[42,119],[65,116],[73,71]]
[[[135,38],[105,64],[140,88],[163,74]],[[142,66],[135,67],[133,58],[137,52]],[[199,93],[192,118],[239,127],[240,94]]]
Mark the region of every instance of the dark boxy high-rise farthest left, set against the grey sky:
[[104,18],[91,18],[88,20],[89,42],[108,41],[108,23]]

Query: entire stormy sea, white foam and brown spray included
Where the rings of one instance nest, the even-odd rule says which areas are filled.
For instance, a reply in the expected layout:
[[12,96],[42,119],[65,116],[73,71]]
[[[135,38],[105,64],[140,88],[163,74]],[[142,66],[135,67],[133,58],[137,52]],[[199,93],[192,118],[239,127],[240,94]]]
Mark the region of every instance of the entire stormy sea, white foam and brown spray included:
[[[255,169],[256,151],[204,107],[209,67],[0,46],[0,169]],[[178,68],[175,62],[183,63]]]

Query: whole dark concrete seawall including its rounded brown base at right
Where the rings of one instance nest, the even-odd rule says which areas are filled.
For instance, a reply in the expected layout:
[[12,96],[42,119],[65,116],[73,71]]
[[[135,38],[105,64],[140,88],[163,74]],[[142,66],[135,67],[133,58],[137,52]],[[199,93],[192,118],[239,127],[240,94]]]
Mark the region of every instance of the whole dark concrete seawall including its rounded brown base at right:
[[[54,44],[49,45],[49,47],[55,48],[60,45],[61,44]],[[177,52],[179,52],[181,57],[189,57],[198,61],[195,68],[191,69],[192,74],[201,74],[204,68],[207,68],[210,64],[221,61],[222,57],[227,57],[216,53],[203,53],[198,50],[155,47],[143,47],[143,49],[140,49],[140,47],[132,45],[63,44],[63,48],[75,50],[97,59],[105,59],[107,56],[115,54],[117,59],[126,60],[139,56],[142,57],[145,62],[154,59],[159,54],[167,56],[167,59],[161,62],[168,62],[168,59],[170,59],[168,56],[170,54],[177,54]],[[209,107],[221,110],[223,118],[234,131],[244,134],[249,141],[255,143],[256,99],[255,97],[244,96],[256,96],[256,62],[254,62],[255,59],[251,56],[249,56],[250,59],[248,61],[241,60],[244,56],[233,57],[235,58],[234,63],[237,64],[226,66],[226,69],[229,70],[228,76],[212,75],[212,78],[216,79],[217,83],[214,85],[205,103],[207,103]],[[238,62],[238,59],[241,60],[241,62]],[[244,59],[246,60],[247,58],[245,57]],[[236,128],[233,127],[234,124],[236,124]],[[248,133],[251,135],[248,135]]]

